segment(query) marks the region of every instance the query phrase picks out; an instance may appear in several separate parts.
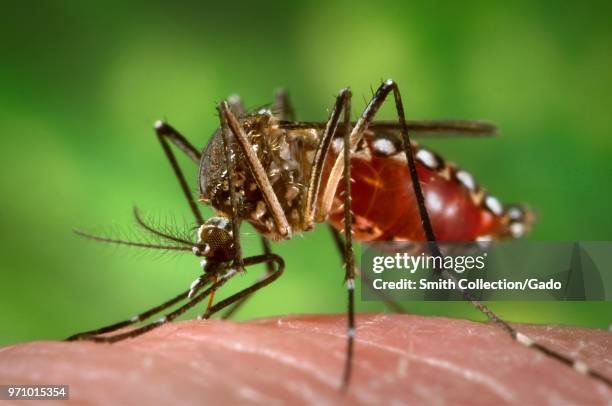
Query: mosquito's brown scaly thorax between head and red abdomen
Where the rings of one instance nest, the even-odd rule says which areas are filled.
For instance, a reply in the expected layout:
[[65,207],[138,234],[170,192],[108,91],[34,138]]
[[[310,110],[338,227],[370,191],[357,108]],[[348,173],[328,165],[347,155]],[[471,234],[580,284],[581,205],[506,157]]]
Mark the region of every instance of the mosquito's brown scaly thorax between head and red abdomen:
[[[240,124],[257,154],[293,231],[304,229],[303,205],[306,183],[318,135],[315,130],[286,130],[269,110],[240,118]],[[238,217],[250,222],[267,238],[283,238],[276,229],[257,181],[231,131],[228,139],[233,153]],[[223,135],[217,129],[202,153],[199,171],[200,200],[217,212],[232,214],[229,175],[225,164]]]

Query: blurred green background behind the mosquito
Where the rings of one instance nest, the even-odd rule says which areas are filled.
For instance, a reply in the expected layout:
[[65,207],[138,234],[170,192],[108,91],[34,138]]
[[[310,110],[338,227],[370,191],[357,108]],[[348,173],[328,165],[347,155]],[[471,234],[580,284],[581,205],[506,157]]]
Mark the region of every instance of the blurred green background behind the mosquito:
[[[71,229],[129,229],[136,203],[162,224],[191,226],[152,123],[166,118],[204,146],[216,103],[234,93],[257,107],[285,86],[299,118],[324,120],[341,87],[352,87],[358,114],[370,87],[393,78],[410,118],[500,126],[495,139],[429,144],[504,201],[535,207],[531,238],[612,238],[609,2],[124,3],[2,2],[0,343],[118,321],[191,283],[200,270],[190,254],[106,247]],[[196,168],[181,162],[195,190]],[[274,249],[287,272],[239,319],[345,310],[325,227]],[[482,319],[465,303],[407,305]],[[612,319],[606,303],[492,307],[512,321]]]

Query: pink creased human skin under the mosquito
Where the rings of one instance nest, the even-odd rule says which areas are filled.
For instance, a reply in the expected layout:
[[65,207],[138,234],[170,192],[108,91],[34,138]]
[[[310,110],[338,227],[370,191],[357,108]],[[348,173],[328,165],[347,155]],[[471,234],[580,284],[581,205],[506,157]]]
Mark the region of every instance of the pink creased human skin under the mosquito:
[[[342,316],[194,320],[115,344],[17,344],[0,349],[0,384],[67,384],[75,404],[612,403],[603,383],[491,324],[362,314],[357,326],[346,392]],[[612,377],[612,333],[515,327]]]

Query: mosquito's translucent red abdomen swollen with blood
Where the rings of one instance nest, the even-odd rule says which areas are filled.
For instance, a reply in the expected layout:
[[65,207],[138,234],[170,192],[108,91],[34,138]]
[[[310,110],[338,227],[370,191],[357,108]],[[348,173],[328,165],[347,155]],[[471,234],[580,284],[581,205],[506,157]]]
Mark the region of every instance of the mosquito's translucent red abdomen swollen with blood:
[[[351,160],[355,238],[361,241],[424,241],[404,154],[400,152],[393,157],[368,155],[371,156],[358,154]],[[477,204],[465,186],[455,179],[446,179],[419,161],[416,165],[438,241],[474,241],[479,236],[496,234],[502,226],[500,217]],[[343,190],[340,182],[329,218],[339,230],[344,224]]]

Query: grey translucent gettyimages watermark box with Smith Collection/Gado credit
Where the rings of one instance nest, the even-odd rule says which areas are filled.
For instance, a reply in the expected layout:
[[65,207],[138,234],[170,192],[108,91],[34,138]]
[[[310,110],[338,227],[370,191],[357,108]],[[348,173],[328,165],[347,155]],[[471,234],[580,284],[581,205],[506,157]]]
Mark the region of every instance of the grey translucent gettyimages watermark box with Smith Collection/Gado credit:
[[611,241],[379,242],[361,257],[363,300],[612,300]]

